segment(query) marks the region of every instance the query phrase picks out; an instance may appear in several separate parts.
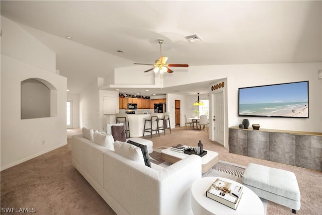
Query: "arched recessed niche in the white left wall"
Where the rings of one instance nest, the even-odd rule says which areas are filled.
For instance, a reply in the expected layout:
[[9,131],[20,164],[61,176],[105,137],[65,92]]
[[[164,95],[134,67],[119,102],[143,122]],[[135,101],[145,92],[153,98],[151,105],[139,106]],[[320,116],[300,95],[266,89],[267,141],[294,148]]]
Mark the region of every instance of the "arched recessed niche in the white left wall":
[[48,81],[26,79],[21,86],[21,119],[57,116],[57,89]]

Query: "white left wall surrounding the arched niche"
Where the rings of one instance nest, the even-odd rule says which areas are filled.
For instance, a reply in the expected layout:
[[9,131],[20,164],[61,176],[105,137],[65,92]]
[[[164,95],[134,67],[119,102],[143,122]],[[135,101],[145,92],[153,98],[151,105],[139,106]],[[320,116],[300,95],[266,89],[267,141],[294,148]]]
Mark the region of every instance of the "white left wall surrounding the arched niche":
[[[67,144],[66,78],[55,74],[55,53],[1,17],[1,170]],[[21,119],[21,81],[35,78],[57,89],[57,116]]]

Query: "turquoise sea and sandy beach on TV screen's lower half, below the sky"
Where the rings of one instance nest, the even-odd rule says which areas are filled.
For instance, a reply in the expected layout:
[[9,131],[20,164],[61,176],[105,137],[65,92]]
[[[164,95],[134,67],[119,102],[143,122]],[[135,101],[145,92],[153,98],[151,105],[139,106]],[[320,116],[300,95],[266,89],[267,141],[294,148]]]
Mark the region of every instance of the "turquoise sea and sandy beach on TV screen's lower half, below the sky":
[[308,117],[307,102],[239,104],[239,115]]

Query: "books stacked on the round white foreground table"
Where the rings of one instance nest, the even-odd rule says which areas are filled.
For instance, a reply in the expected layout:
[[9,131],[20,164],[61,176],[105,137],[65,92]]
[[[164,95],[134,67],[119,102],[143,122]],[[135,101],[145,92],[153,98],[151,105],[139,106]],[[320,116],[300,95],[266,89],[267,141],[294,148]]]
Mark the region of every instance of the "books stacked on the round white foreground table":
[[237,209],[243,186],[225,182],[219,178],[209,187],[206,196],[232,209]]

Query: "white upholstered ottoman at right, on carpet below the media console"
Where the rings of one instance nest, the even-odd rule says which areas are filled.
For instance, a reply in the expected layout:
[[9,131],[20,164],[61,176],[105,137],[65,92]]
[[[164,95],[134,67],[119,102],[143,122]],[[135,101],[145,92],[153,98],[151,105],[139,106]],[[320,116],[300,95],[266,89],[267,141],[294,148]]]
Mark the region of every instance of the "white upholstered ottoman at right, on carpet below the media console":
[[292,172],[250,163],[243,183],[259,197],[290,207],[293,213],[300,209],[300,190]]

